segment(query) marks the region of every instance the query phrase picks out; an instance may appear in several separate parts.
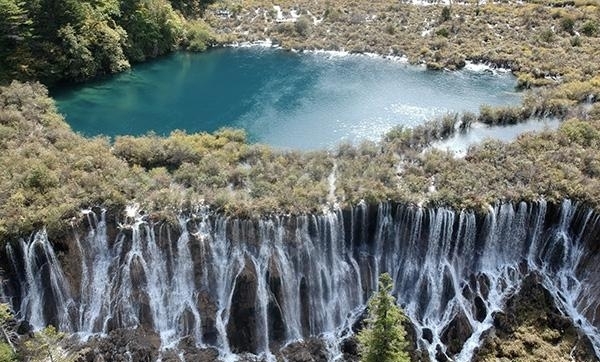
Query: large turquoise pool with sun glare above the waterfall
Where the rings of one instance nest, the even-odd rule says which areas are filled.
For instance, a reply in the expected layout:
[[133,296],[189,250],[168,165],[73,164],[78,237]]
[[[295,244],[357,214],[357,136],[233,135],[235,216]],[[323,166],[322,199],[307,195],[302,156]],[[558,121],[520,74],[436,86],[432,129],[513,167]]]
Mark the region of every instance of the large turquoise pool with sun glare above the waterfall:
[[517,103],[510,75],[431,72],[367,56],[262,48],[176,53],[107,80],[55,91],[85,135],[245,129],[252,141],[298,149],[376,139],[483,103]]

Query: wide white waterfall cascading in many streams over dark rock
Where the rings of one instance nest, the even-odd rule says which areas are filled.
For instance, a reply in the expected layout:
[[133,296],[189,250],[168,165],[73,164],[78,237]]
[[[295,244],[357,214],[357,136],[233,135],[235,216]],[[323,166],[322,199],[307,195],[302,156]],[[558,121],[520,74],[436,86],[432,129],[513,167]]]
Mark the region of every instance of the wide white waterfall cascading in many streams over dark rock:
[[[143,327],[165,349],[191,338],[224,360],[245,352],[275,360],[280,348],[317,336],[336,360],[388,272],[418,347],[432,360],[470,361],[494,314],[537,273],[600,354],[599,215],[569,200],[499,203],[483,215],[360,203],[244,220],[203,209],[176,225],[129,210],[116,235],[104,211],[84,216],[87,230],[75,229],[69,249],[79,279],[67,277],[43,231],[6,247],[1,295],[35,328],[54,324],[85,338]],[[458,325],[456,350],[444,341]]]

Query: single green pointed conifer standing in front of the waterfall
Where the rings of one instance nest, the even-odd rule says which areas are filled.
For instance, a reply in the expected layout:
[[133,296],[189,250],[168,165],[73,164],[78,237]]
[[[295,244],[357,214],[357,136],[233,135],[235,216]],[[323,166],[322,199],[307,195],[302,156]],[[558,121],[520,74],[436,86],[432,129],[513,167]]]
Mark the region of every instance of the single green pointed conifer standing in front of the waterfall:
[[402,322],[406,319],[391,295],[392,278],[379,276],[379,291],[369,300],[366,327],[358,334],[361,362],[409,362],[408,342]]

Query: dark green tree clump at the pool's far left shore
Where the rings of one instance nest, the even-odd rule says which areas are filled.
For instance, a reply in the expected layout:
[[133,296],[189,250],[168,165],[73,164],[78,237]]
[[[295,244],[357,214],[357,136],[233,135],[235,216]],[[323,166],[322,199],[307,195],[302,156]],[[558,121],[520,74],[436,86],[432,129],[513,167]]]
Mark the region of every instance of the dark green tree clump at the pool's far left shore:
[[[175,1],[186,13],[202,1]],[[167,0],[0,0],[0,83],[82,81],[179,47],[204,50],[208,27]]]

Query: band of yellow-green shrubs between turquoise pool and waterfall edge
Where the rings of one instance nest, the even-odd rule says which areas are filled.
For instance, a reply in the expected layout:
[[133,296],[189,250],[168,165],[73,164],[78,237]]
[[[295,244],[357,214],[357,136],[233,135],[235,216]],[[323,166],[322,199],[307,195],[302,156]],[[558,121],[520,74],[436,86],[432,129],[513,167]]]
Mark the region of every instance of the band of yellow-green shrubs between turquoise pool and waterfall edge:
[[156,218],[199,204],[244,217],[387,199],[484,209],[497,200],[568,197],[600,206],[598,106],[556,132],[488,141],[463,159],[426,149],[460,128],[453,117],[396,129],[377,143],[301,153],[248,144],[231,129],[84,138],[38,83],[0,88],[0,106],[2,240],[44,226],[59,234],[81,208],[134,201]]

